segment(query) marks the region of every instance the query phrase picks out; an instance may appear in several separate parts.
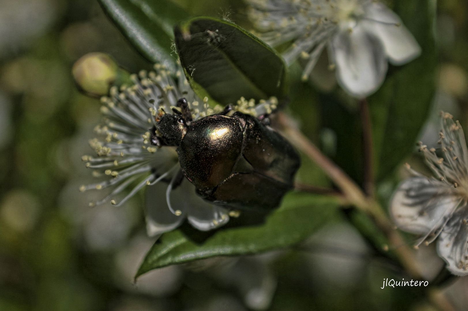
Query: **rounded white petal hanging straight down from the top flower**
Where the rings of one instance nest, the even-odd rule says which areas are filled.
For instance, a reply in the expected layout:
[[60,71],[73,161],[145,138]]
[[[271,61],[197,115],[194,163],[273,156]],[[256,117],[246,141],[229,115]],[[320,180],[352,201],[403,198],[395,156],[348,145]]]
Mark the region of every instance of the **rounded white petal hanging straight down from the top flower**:
[[358,24],[340,30],[330,40],[331,58],[336,64],[336,77],[351,95],[365,97],[375,92],[387,73],[387,58],[380,40]]

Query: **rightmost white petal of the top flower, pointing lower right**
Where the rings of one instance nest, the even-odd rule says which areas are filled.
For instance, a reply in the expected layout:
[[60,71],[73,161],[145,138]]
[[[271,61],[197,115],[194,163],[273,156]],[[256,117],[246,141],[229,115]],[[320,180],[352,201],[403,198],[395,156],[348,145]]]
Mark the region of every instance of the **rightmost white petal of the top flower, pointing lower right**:
[[402,65],[421,54],[416,39],[393,11],[373,1],[365,7],[365,11],[366,19],[362,24],[382,41],[390,63]]

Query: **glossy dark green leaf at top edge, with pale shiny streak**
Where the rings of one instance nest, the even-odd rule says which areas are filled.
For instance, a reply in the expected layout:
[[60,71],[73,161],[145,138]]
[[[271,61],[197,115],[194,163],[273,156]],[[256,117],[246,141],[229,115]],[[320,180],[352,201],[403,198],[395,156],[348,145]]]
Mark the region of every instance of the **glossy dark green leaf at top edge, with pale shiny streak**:
[[150,62],[163,62],[170,56],[172,28],[187,17],[169,0],[98,0],[104,12],[133,46]]

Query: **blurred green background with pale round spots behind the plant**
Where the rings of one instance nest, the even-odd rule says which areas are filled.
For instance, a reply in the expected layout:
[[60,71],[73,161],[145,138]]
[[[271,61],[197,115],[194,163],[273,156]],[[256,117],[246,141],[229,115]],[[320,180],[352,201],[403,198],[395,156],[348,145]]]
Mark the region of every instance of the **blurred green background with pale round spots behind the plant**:
[[[229,17],[250,29],[241,1],[174,2],[189,14]],[[425,143],[436,139],[440,109],[468,128],[467,14],[466,1],[438,2],[438,76],[420,134]],[[152,65],[95,0],[0,0],[0,311],[440,308],[424,288],[380,289],[384,278],[402,277],[399,267],[371,256],[366,240],[345,221],[352,215],[337,217],[292,249],[171,266],[133,283],[154,242],[146,237],[141,197],[120,208],[90,208],[95,194],[78,191],[92,180],[81,155],[91,152],[88,139],[100,105],[80,94],[71,68],[92,51],[109,53],[129,72]],[[293,67],[292,74],[300,69]],[[326,93],[334,80],[312,80],[292,85],[301,97],[289,109],[292,116],[307,116],[302,130],[333,157],[336,134],[321,123],[316,90]],[[424,169],[417,155],[408,161]],[[329,185],[311,162],[301,172],[307,172],[299,173],[303,182]],[[403,177],[396,172],[395,180]],[[394,179],[380,182],[382,201],[394,187]],[[429,267],[427,277],[443,265],[432,248],[418,258]],[[443,292],[452,310],[466,310],[467,278],[447,283]]]

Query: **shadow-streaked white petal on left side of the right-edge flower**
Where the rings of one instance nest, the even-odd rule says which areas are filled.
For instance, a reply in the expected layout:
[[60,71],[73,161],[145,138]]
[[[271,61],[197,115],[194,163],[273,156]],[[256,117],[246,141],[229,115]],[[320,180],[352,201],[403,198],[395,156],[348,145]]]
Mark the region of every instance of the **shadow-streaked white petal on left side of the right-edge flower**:
[[460,198],[444,182],[412,177],[403,181],[393,195],[390,215],[398,228],[428,234],[446,222],[459,202]]

